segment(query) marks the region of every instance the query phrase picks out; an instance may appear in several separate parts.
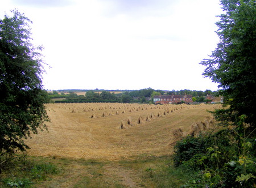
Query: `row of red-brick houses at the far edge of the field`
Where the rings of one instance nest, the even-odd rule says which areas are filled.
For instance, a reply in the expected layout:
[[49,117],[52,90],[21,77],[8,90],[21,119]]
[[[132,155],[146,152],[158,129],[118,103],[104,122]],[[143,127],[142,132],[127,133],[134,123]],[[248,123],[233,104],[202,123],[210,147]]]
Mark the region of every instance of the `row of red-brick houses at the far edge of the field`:
[[155,95],[155,104],[192,104],[192,95]]

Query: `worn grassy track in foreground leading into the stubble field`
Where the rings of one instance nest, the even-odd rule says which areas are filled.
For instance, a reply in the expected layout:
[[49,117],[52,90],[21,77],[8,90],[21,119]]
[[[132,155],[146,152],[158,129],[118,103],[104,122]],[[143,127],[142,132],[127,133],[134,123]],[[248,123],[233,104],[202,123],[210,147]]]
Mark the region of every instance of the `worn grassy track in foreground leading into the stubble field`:
[[[37,187],[145,187],[136,170],[112,161],[55,160],[61,174],[41,182]],[[53,163],[54,160],[52,161]]]

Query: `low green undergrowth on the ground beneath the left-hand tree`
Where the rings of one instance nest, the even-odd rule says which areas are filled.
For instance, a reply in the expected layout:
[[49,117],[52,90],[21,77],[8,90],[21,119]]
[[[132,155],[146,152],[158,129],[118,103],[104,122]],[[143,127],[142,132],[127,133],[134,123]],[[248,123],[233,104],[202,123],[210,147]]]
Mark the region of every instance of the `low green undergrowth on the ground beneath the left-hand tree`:
[[36,187],[39,182],[51,180],[60,170],[46,160],[28,159],[26,154],[1,156],[0,187]]

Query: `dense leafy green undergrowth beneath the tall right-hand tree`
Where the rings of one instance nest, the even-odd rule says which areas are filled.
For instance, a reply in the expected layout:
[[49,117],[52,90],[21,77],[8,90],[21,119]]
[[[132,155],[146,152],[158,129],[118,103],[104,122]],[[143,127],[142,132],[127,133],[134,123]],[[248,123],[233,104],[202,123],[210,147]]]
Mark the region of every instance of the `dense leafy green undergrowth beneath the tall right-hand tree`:
[[177,142],[176,168],[196,174],[181,187],[256,187],[255,134],[244,123],[245,116],[239,119],[237,126]]

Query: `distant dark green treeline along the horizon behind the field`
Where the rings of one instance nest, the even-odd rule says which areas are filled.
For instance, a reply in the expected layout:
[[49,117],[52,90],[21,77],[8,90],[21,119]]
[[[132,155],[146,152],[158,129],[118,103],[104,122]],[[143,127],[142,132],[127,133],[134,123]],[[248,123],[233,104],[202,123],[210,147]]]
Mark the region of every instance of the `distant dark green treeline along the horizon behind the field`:
[[[65,94],[67,93],[68,94]],[[75,93],[76,92],[76,93]],[[85,95],[77,95],[79,92],[86,92]],[[163,91],[155,90],[152,88],[140,89],[140,90],[83,90],[83,89],[65,89],[48,92],[50,99],[56,103],[64,102],[123,102],[123,103],[152,103],[152,99],[155,95],[192,95],[194,101],[204,102],[205,96],[216,96],[216,91],[191,91],[188,89],[180,91]],[[57,99],[63,100],[57,100]]]

